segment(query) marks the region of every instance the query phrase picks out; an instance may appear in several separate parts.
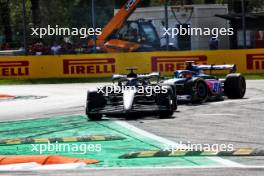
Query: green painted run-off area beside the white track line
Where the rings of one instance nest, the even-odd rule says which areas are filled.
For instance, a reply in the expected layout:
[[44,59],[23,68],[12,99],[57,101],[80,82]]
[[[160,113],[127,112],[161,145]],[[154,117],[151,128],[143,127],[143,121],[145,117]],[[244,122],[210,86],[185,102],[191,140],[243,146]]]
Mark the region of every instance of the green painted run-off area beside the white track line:
[[[219,165],[206,157],[164,157],[120,159],[119,156],[133,151],[158,150],[164,145],[153,139],[130,131],[112,120],[87,121],[82,115],[50,117],[35,120],[0,123],[0,140],[17,138],[55,138],[87,135],[118,135],[125,140],[86,142],[101,144],[101,152],[78,154],[75,152],[46,152],[44,154],[65,155],[78,158],[93,158],[101,162],[88,167],[140,167],[140,166],[210,166]],[[79,145],[82,142],[78,143]],[[31,144],[0,145],[0,155],[37,155]]]

